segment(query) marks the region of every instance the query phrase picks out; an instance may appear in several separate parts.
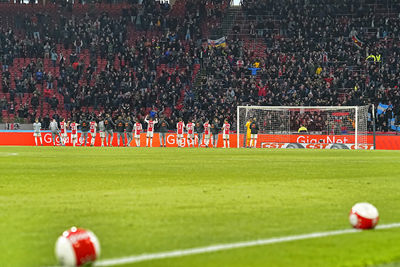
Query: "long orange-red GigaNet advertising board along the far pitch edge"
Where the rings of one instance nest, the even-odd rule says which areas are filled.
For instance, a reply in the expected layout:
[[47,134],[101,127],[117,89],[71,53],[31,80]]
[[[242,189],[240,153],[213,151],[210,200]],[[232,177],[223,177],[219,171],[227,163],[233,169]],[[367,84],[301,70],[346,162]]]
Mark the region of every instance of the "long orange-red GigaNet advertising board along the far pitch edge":
[[[53,145],[51,132],[42,131],[42,139],[43,145],[51,146]],[[244,135],[240,136],[240,146],[242,147],[244,144]],[[339,148],[339,144],[344,144],[348,149],[354,149],[354,136],[351,135],[312,135],[312,134],[299,134],[299,135],[291,135],[289,143],[279,142],[279,139],[282,140],[281,135],[266,135],[259,134],[257,147],[264,148],[283,148],[283,147],[293,147],[298,146],[300,148],[318,148],[318,149],[337,149]],[[91,137],[89,134],[88,143],[91,141]],[[274,140],[275,139],[275,140]],[[167,146],[176,147],[177,139],[175,133],[168,133],[166,137]],[[360,145],[362,149],[372,149],[373,137],[368,136],[368,145]],[[78,133],[78,143],[77,145],[82,145],[83,138],[81,138],[81,133]],[[122,142],[121,142],[122,143]],[[197,147],[199,143],[198,136],[195,137],[195,146]],[[117,146],[117,134],[114,133],[113,137],[113,146]],[[334,145],[336,144],[336,145]],[[35,140],[33,137],[33,131],[0,131],[0,145],[8,145],[8,146],[34,146]],[[59,137],[56,138],[56,145],[60,145]],[[68,133],[67,137],[67,146],[71,146],[71,133]],[[95,146],[100,146],[100,135],[97,133]],[[187,138],[186,134],[184,135],[183,145],[187,147]],[[135,141],[132,141],[131,146],[135,146]],[[140,138],[140,146],[146,146],[146,134],[142,133]],[[153,147],[159,147],[159,135],[157,133],[154,134],[153,137]],[[204,147],[204,144],[201,146]],[[210,147],[212,146],[210,141]],[[223,147],[222,135],[219,135],[218,138],[218,147]],[[237,147],[237,138],[236,134],[230,135],[230,147]],[[341,148],[345,148],[342,146]],[[377,135],[376,136],[376,148],[377,149],[390,149],[390,150],[400,150],[400,136],[397,135]]]

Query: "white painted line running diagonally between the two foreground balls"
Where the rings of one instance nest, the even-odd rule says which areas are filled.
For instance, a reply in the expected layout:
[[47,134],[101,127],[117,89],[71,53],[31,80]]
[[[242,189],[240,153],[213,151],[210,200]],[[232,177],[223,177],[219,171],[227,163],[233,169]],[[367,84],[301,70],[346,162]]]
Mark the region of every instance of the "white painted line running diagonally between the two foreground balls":
[[[398,227],[400,227],[400,223],[392,223],[392,224],[384,224],[384,225],[377,226],[375,229],[390,229],[390,228],[398,228]],[[206,246],[206,247],[189,248],[189,249],[182,249],[182,250],[172,250],[172,251],[165,251],[165,252],[158,252],[158,253],[133,255],[133,256],[115,258],[115,259],[109,259],[109,260],[100,260],[100,261],[96,262],[94,266],[115,266],[115,265],[135,263],[135,262],[141,262],[141,261],[151,261],[151,260],[157,260],[157,259],[182,257],[182,256],[194,255],[194,254],[211,253],[211,252],[230,250],[230,249],[235,249],[235,248],[263,246],[263,245],[269,245],[269,244],[291,242],[291,241],[296,241],[296,240],[351,234],[351,233],[357,233],[360,231],[361,230],[356,230],[356,229],[344,229],[344,230],[336,230],[336,231],[316,232],[316,233],[309,233],[309,234],[302,234],[302,235],[292,235],[292,236],[275,237],[275,238],[268,238],[268,239],[259,239],[259,240],[253,240],[253,241],[211,245],[211,246]]]

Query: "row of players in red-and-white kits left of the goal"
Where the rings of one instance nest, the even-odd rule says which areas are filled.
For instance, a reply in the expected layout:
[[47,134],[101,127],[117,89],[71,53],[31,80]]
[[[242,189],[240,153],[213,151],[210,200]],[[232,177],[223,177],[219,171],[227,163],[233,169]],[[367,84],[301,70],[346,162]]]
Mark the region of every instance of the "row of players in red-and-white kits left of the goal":
[[[160,138],[160,146],[167,146],[166,134],[168,131],[168,122],[164,119],[160,121],[157,118],[146,116],[144,121],[147,124],[146,131],[146,147],[153,146],[153,135],[155,132],[156,124],[159,124],[158,132]],[[222,138],[223,138],[223,147],[229,148],[229,133],[230,133],[230,124],[228,120],[225,120],[222,127],[217,127],[217,121],[214,123],[210,123],[209,120],[206,120],[204,124],[200,122],[196,122],[195,120],[188,121],[187,124],[184,123],[182,119],[179,119],[176,124],[176,134],[177,134],[177,144],[178,147],[184,146],[184,134],[187,133],[187,143],[188,146],[195,147],[195,133],[198,134],[198,146],[200,147],[203,143],[204,137],[204,145],[205,147],[209,147],[210,141],[213,147],[217,147],[218,141],[218,132],[222,130]],[[91,119],[82,119],[79,123],[76,120],[66,121],[62,119],[58,124],[55,119],[53,119],[50,123],[50,131],[52,135],[53,145],[56,145],[56,138],[59,137],[61,145],[65,146],[68,137],[67,130],[71,130],[71,141],[72,145],[76,146],[78,144],[78,127],[80,128],[82,135],[81,138],[83,140],[82,146],[94,146],[97,132],[100,134],[101,146],[113,146],[113,138],[114,131],[117,133],[117,144],[118,146],[131,146],[131,142],[135,139],[135,145],[140,147],[140,134],[143,131],[142,123],[139,119],[136,119],[135,122],[131,121],[131,118],[128,116],[127,118],[122,118],[119,116],[116,121],[107,114],[105,117],[101,117],[97,122],[94,117]],[[34,137],[35,144],[38,145],[38,139],[40,144],[43,145],[42,137],[41,137],[41,123],[38,119],[36,119],[35,123],[33,123],[34,129]],[[89,140],[90,134],[90,140]]]

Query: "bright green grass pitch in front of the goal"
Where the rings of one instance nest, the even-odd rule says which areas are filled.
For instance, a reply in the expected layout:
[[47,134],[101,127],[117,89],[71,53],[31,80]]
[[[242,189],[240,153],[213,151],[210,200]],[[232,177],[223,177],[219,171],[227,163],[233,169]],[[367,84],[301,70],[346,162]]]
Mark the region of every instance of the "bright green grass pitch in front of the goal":
[[[400,152],[0,148],[0,265],[55,265],[79,226],[101,259],[350,228],[356,202],[400,222]],[[400,262],[400,229],[126,266],[375,266]],[[394,266],[394,265],[393,265]]]

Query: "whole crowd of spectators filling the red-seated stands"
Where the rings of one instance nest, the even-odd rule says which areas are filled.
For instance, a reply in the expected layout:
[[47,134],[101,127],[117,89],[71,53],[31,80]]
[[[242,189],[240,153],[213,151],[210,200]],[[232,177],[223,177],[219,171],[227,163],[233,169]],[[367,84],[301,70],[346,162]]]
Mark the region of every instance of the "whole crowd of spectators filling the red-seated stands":
[[[88,107],[137,117],[152,110],[173,126],[179,117],[229,117],[234,125],[238,104],[384,103],[393,108],[380,115],[378,130],[389,130],[392,117],[398,123],[399,5],[378,9],[367,0],[244,0],[241,23],[238,18],[233,22],[227,45],[209,47],[204,28],[220,25],[226,4],[188,0],[182,17],[171,16],[168,4],[152,0],[117,17],[105,12],[18,14],[14,28],[0,28],[2,90],[10,93],[10,101],[0,99],[0,109],[13,112],[13,99],[32,93],[18,116],[37,116],[28,110],[36,110],[44,99],[53,110],[61,105],[77,117]],[[143,36],[132,38],[132,32]],[[255,53],[249,43],[264,51]],[[58,44],[72,53],[58,53]],[[80,57],[84,51],[88,61]],[[368,55],[379,55],[379,61],[367,60]],[[11,81],[14,58],[38,60]],[[43,59],[51,60],[57,74],[44,70]],[[98,59],[106,60],[104,68]],[[198,86],[196,66],[205,73]],[[44,96],[37,84],[51,93]]]

